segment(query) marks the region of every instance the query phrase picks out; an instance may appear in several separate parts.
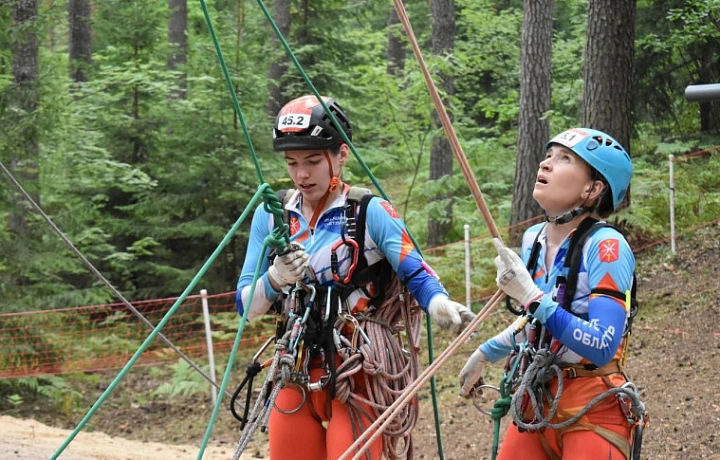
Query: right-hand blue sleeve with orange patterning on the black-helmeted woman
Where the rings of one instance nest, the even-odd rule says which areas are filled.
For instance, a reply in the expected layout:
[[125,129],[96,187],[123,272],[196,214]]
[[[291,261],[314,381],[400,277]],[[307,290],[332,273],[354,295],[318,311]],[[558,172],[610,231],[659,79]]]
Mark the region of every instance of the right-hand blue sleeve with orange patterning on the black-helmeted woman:
[[405,223],[388,201],[377,197],[370,200],[366,225],[370,238],[423,310],[427,312],[430,300],[436,295],[449,297],[443,285],[428,272],[429,267],[410,239]]

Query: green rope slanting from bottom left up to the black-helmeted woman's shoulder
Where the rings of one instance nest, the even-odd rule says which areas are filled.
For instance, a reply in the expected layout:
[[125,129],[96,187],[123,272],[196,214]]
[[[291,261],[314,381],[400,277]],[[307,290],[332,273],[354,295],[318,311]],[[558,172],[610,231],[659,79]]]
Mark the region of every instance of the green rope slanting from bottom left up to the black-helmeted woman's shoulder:
[[[230,240],[235,235],[235,233],[240,228],[240,225],[245,221],[247,216],[250,214],[250,211],[254,208],[254,205],[256,202],[258,202],[263,195],[263,192],[266,188],[269,188],[270,186],[268,184],[261,185],[257,192],[255,192],[255,195],[253,195],[252,200],[250,200],[250,203],[245,208],[245,211],[240,215],[238,220],[233,224],[233,226],[230,228],[230,230],[227,232],[225,237],[222,239],[220,244],[218,244],[217,248],[215,248],[215,251],[213,251],[212,255],[210,255],[210,258],[205,261],[203,266],[200,268],[200,270],[197,272],[195,277],[190,281],[190,284],[185,288],[183,293],[178,297],[178,299],[173,303],[172,307],[168,310],[168,312],[163,316],[163,319],[157,324],[155,329],[152,331],[152,333],[145,339],[145,341],[140,345],[140,348],[135,352],[135,354],[130,358],[130,360],[125,364],[125,367],[122,368],[120,373],[115,377],[115,379],[108,385],[108,387],[105,389],[102,395],[95,401],[95,404],[90,408],[90,410],[85,414],[85,416],[80,420],[80,423],[75,427],[75,429],[70,433],[70,436],[63,442],[63,444],[58,448],[58,450],[50,457],[50,460],[56,460],[60,454],[67,448],[67,446],[72,442],[73,439],[80,433],[82,428],[87,424],[87,422],[90,420],[90,418],[95,414],[95,412],[100,408],[100,406],[105,402],[105,400],[108,398],[110,393],[115,390],[115,387],[120,383],[120,381],[125,377],[125,375],[128,373],[130,368],[135,364],[135,362],[140,359],[140,356],[145,352],[145,349],[155,340],[155,337],[160,333],[163,327],[165,327],[165,324],[170,320],[170,317],[175,313],[175,311],[182,305],[182,303],[185,301],[185,298],[195,289],[197,284],[200,282],[200,279],[205,275],[205,272],[210,268],[210,265],[215,261],[215,259],[220,255],[222,250],[225,248],[225,246],[230,243]],[[245,318],[243,318],[244,321]],[[243,323],[241,322],[241,326]],[[236,341],[239,343],[239,339],[236,338]],[[231,355],[232,358],[233,355]],[[228,366],[228,369],[230,366]],[[222,395],[225,393],[226,388],[226,381],[223,380],[223,384],[220,387],[220,393],[218,395],[218,402],[222,399]],[[215,414],[213,414],[215,415]],[[214,420],[213,420],[214,423]]]

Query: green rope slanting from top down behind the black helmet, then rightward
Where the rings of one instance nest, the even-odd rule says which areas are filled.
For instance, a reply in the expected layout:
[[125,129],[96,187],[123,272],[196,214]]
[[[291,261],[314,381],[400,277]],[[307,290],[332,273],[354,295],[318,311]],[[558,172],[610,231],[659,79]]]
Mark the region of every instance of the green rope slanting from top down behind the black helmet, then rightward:
[[[280,43],[282,44],[283,48],[285,48],[285,51],[287,52],[288,57],[290,60],[295,64],[295,67],[300,72],[300,75],[302,76],[303,80],[305,80],[305,83],[307,83],[310,90],[313,92],[315,97],[320,101],[320,104],[322,104],[323,109],[325,110],[325,113],[330,117],[335,127],[340,132],[340,135],[342,136],[345,143],[350,147],[350,151],[353,153],[353,156],[357,159],[358,163],[362,166],[362,168],[367,173],[368,177],[372,181],[373,185],[375,185],[375,188],[380,192],[380,195],[386,199],[387,201],[391,201],[388,195],[385,193],[385,190],[382,188],[382,185],[380,185],[380,182],[378,182],[377,178],[373,175],[372,171],[370,171],[370,168],[365,163],[365,161],[362,159],[360,154],[358,153],[357,149],[355,148],[355,145],[352,143],[350,138],[348,137],[347,133],[345,132],[345,129],[343,129],[342,124],[338,122],[335,115],[330,111],[327,104],[325,104],[325,101],[322,98],[322,95],[320,92],[315,88],[315,85],[313,85],[312,81],[310,81],[310,78],[308,77],[307,73],[305,73],[305,70],[303,69],[302,65],[300,65],[300,62],[295,57],[295,54],[290,49],[290,46],[287,43],[287,40],[285,40],[285,37],[283,36],[282,32],[280,32],[280,29],[278,28],[277,24],[275,23],[275,20],[272,18],[272,15],[270,14],[270,11],[268,11],[267,7],[265,6],[265,3],[263,0],[257,0],[258,5],[263,11],[263,14],[265,14],[265,17],[267,18],[268,22],[270,23],[270,26],[272,27],[273,31],[275,31],[275,35],[280,40]],[[410,240],[415,245],[415,249],[417,249],[418,253],[422,257],[422,250],[420,249],[420,245],[417,244],[417,241],[415,241],[415,237],[410,232],[410,229],[408,229],[408,236],[410,237]],[[434,352],[433,352],[433,333],[432,333],[432,325],[431,321],[428,320],[426,322],[426,329],[428,334],[428,360],[430,364],[435,360]],[[436,382],[435,377],[430,378],[430,389],[432,394],[432,403],[433,403],[433,413],[435,415],[435,433],[437,438],[437,445],[438,445],[438,454],[440,456],[440,460],[444,460],[445,456],[443,454],[442,449],[442,435],[440,432],[440,410],[438,409],[438,400],[437,400],[437,389],[436,389]]]

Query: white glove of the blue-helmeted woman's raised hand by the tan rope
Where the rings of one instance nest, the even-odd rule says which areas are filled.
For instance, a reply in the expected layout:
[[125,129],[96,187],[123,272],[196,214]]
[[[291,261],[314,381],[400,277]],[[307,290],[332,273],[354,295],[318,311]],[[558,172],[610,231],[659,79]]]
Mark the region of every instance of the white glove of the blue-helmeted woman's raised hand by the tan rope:
[[495,266],[498,270],[495,282],[505,294],[518,300],[527,309],[530,303],[542,298],[543,292],[535,285],[525,264],[515,251],[505,247],[497,238],[493,238],[493,244],[498,251],[498,256],[495,258]]

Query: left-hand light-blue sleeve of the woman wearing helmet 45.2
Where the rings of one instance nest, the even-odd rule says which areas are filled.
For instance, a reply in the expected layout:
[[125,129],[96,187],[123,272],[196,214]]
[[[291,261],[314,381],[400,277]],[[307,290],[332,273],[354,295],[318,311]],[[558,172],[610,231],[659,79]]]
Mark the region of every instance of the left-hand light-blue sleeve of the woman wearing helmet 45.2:
[[[267,279],[267,269],[269,262],[267,257],[262,254],[263,247],[265,245],[265,237],[270,234],[270,222],[272,216],[265,211],[261,204],[255,209],[253,214],[252,225],[250,227],[250,237],[248,238],[247,250],[245,252],[245,262],[243,263],[242,272],[240,273],[240,279],[238,279],[237,293],[235,294],[235,303],[237,305],[238,313],[241,315],[244,312],[244,306],[242,301],[243,288],[247,287],[252,283],[255,275],[255,269],[257,267],[258,258],[262,257],[263,261],[260,266],[260,282],[257,286],[263,289],[262,294],[265,299],[272,303],[277,299],[280,291],[275,291],[270,282]],[[258,298],[260,293],[255,293],[255,298]]]

